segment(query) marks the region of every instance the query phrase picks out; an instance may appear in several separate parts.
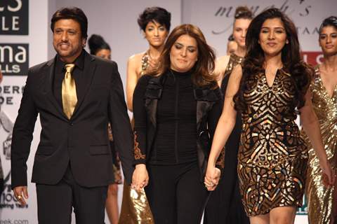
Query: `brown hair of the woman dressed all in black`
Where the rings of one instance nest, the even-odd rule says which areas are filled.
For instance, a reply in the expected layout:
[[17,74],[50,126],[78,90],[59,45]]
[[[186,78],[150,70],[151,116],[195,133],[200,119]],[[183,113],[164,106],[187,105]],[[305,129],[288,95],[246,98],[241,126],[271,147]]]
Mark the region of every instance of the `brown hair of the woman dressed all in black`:
[[159,58],[159,67],[156,71],[150,73],[150,75],[161,76],[166,73],[166,71],[169,71],[171,68],[171,48],[182,35],[191,36],[197,41],[198,60],[191,69],[192,82],[199,87],[209,85],[211,88],[216,88],[218,86],[216,77],[211,75],[215,67],[214,61],[216,59],[216,54],[211,46],[206,43],[204,34],[202,34],[199,27],[190,24],[180,25],[171,31]]

